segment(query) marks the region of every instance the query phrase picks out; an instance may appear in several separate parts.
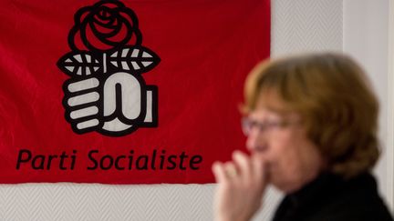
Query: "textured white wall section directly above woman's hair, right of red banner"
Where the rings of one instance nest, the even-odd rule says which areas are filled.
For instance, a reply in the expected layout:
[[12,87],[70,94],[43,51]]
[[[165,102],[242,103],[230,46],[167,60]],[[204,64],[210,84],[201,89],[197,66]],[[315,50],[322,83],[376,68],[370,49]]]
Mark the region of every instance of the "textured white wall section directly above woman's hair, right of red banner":
[[272,0],[272,53],[342,51],[342,0]]

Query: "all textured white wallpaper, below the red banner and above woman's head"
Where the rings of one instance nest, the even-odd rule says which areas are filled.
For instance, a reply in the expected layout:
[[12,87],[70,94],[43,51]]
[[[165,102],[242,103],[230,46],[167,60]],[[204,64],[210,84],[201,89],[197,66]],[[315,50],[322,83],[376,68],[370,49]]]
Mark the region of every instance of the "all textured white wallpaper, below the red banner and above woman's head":
[[[342,0],[272,0],[272,53],[342,50]],[[0,220],[207,221],[214,185],[0,186]],[[280,194],[270,189],[255,220],[269,220]]]

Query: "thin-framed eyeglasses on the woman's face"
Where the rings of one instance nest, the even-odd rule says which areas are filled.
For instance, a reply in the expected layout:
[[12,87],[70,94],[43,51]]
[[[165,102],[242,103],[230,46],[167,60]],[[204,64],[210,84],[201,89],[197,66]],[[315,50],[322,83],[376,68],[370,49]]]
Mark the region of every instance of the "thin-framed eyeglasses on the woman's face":
[[242,129],[245,136],[249,136],[252,129],[256,127],[259,132],[269,131],[279,127],[285,127],[297,124],[298,121],[286,121],[286,120],[270,120],[264,122],[258,122],[250,119],[249,117],[243,117],[241,120]]

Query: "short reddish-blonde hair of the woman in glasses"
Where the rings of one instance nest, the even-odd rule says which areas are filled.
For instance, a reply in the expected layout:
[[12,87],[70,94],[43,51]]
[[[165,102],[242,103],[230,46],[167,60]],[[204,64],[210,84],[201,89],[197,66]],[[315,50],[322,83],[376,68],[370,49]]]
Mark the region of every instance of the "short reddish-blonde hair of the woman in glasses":
[[[371,169],[378,160],[378,100],[364,71],[346,55],[297,55],[264,61],[248,75],[244,113],[274,92],[303,118],[308,137],[327,160],[328,170],[344,177]],[[260,104],[260,103],[259,103]],[[274,108],[274,109],[275,109]]]

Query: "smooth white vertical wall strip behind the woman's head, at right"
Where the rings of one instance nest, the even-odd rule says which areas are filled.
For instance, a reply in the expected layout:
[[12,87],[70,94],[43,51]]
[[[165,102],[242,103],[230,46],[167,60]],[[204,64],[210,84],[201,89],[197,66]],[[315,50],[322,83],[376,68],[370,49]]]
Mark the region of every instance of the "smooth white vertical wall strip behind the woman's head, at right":
[[389,88],[394,84],[389,80],[389,0],[346,0],[343,7],[343,50],[364,66],[380,101],[382,156],[375,174],[380,193],[393,210],[393,134],[390,128],[394,122],[393,112],[389,111],[393,98],[389,100]]

